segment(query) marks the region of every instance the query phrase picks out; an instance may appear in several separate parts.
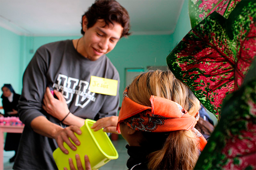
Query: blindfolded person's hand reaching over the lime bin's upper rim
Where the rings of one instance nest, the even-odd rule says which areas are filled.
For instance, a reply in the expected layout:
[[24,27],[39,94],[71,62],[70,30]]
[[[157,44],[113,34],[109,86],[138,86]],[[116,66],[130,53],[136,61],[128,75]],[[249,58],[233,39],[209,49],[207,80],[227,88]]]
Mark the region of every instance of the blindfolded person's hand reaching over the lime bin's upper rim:
[[111,117],[104,117],[96,121],[91,129],[94,129],[94,131],[100,130],[101,128],[104,128],[103,131],[107,133],[115,133],[120,134],[116,130],[118,122],[118,116],[111,116]]

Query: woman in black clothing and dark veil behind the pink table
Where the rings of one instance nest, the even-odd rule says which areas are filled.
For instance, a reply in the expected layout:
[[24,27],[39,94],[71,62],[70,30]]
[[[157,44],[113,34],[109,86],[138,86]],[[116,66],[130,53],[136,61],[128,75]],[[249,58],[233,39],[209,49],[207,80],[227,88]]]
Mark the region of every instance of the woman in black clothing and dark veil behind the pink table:
[[[15,116],[18,117],[18,100],[20,99],[19,94],[16,94],[11,86],[11,84],[4,84],[2,87],[2,106],[4,108],[4,117]],[[21,134],[20,133],[7,133],[5,139],[5,151],[15,151],[15,155],[10,159],[10,162],[14,162],[18,146],[20,143]]]

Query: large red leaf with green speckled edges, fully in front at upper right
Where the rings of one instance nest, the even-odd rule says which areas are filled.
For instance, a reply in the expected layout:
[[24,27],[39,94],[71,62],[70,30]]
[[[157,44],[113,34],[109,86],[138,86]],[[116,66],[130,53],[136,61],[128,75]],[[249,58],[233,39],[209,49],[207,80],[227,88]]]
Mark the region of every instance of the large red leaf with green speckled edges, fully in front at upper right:
[[241,1],[226,19],[213,12],[167,56],[173,74],[219,117],[223,99],[237,90],[256,56],[256,2]]

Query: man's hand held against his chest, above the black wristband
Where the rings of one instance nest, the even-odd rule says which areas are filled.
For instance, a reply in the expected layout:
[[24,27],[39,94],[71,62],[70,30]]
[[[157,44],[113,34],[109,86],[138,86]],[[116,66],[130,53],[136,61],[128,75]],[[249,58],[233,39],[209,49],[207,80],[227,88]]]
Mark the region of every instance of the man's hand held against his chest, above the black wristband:
[[59,100],[54,98],[49,87],[46,88],[43,99],[43,109],[48,114],[61,121],[63,118],[65,118],[65,116],[67,116],[67,114],[69,113],[69,109],[66,103],[66,99],[63,97],[61,92],[54,90],[54,94]]

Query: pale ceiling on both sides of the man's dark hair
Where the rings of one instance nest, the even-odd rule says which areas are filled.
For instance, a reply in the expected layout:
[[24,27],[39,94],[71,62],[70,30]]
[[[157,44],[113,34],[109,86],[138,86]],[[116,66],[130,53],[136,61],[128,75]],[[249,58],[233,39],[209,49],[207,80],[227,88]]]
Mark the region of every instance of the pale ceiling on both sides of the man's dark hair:
[[[172,34],[184,0],[117,0],[133,35]],[[0,26],[18,35],[80,35],[81,17],[94,0],[0,0]]]

